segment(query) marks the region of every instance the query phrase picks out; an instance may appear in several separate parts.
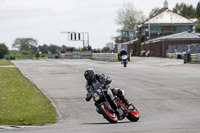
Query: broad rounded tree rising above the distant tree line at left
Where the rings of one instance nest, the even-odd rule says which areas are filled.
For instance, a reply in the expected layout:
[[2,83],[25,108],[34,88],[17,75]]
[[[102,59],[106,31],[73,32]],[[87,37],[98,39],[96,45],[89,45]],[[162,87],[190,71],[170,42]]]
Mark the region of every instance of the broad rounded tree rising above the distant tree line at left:
[[12,47],[19,50],[28,51],[37,46],[38,41],[33,38],[17,38],[15,39]]

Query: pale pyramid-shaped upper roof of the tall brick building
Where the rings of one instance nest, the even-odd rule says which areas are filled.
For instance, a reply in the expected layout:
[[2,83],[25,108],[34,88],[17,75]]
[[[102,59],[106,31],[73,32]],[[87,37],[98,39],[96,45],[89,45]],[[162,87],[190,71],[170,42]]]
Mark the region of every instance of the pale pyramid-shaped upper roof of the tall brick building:
[[169,9],[144,22],[144,24],[194,24],[194,21],[180,16]]

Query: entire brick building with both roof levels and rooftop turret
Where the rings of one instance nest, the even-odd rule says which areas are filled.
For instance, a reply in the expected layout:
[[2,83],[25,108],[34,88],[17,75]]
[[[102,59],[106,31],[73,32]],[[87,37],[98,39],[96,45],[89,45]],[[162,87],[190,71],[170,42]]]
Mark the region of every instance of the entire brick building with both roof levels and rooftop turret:
[[150,56],[168,57],[169,53],[188,52],[190,45],[198,47],[200,37],[195,33],[196,22],[197,19],[187,19],[170,11],[165,1],[163,11],[141,25],[142,50],[149,51]]

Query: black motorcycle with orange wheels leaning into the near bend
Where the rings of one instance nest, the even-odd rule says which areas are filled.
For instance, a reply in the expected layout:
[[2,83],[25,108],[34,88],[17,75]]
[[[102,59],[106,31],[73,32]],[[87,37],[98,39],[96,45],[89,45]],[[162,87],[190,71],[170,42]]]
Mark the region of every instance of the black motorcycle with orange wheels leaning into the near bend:
[[118,120],[123,120],[125,117],[131,122],[136,122],[139,120],[139,112],[133,104],[131,104],[129,107],[126,107],[117,96],[114,96],[114,101],[117,104],[117,111],[115,112],[112,109],[106,95],[107,89],[94,89],[92,93],[96,111],[99,114],[102,114],[106,120],[108,120],[110,123],[117,123]]

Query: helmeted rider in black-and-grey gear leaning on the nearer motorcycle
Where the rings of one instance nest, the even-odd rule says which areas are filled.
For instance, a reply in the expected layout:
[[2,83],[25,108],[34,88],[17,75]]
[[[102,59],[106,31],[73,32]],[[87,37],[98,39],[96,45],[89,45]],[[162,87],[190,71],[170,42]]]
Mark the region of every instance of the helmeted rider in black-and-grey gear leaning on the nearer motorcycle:
[[107,89],[107,95],[109,96],[108,100],[115,111],[117,109],[117,106],[113,100],[114,99],[113,94],[117,95],[125,104],[125,106],[129,107],[131,105],[128,102],[128,100],[124,97],[124,90],[110,87],[109,84],[112,82],[110,77],[104,74],[96,74],[95,71],[91,68],[87,69],[84,72],[84,76],[85,76],[85,79],[87,80],[86,86],[85,86],[87,90],[86,101],[90,101],[90,99],[92,98],[93,89],[98,89],[98,88],[101,88],[101,86],[104,86],[105,89]]

